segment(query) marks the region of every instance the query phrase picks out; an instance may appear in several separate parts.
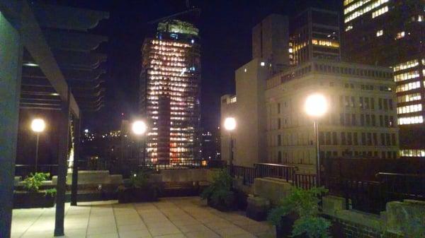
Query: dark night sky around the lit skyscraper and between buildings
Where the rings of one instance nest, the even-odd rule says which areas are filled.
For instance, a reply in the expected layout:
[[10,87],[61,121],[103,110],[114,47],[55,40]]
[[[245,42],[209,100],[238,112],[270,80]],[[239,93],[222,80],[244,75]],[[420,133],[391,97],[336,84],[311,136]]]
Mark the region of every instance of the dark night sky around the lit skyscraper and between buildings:
[[[135,116],[137,83],[140,73],[140,47],[147,34],[147,22],[186,10],[184,0],[69,0],[55,1],[65,6],[108,11],[91,32],[106,35],[109,41],[99,52],[108,54],[106,107],[96,114],[86,114],[84,127],[103,131],[119,129],[121,119]],[[234,93],[234,70],[251,59],[251,28],[270,13],[294,16],[307,6],[341,9],[341,0],[266,1],[198,0],[191,6],[201,9],[198,28],[201,37],[203,128],[220,123],[220,96]],[[121,114],[124,113],[124,116]],[[97,121],[103,121],[99,124]]]

